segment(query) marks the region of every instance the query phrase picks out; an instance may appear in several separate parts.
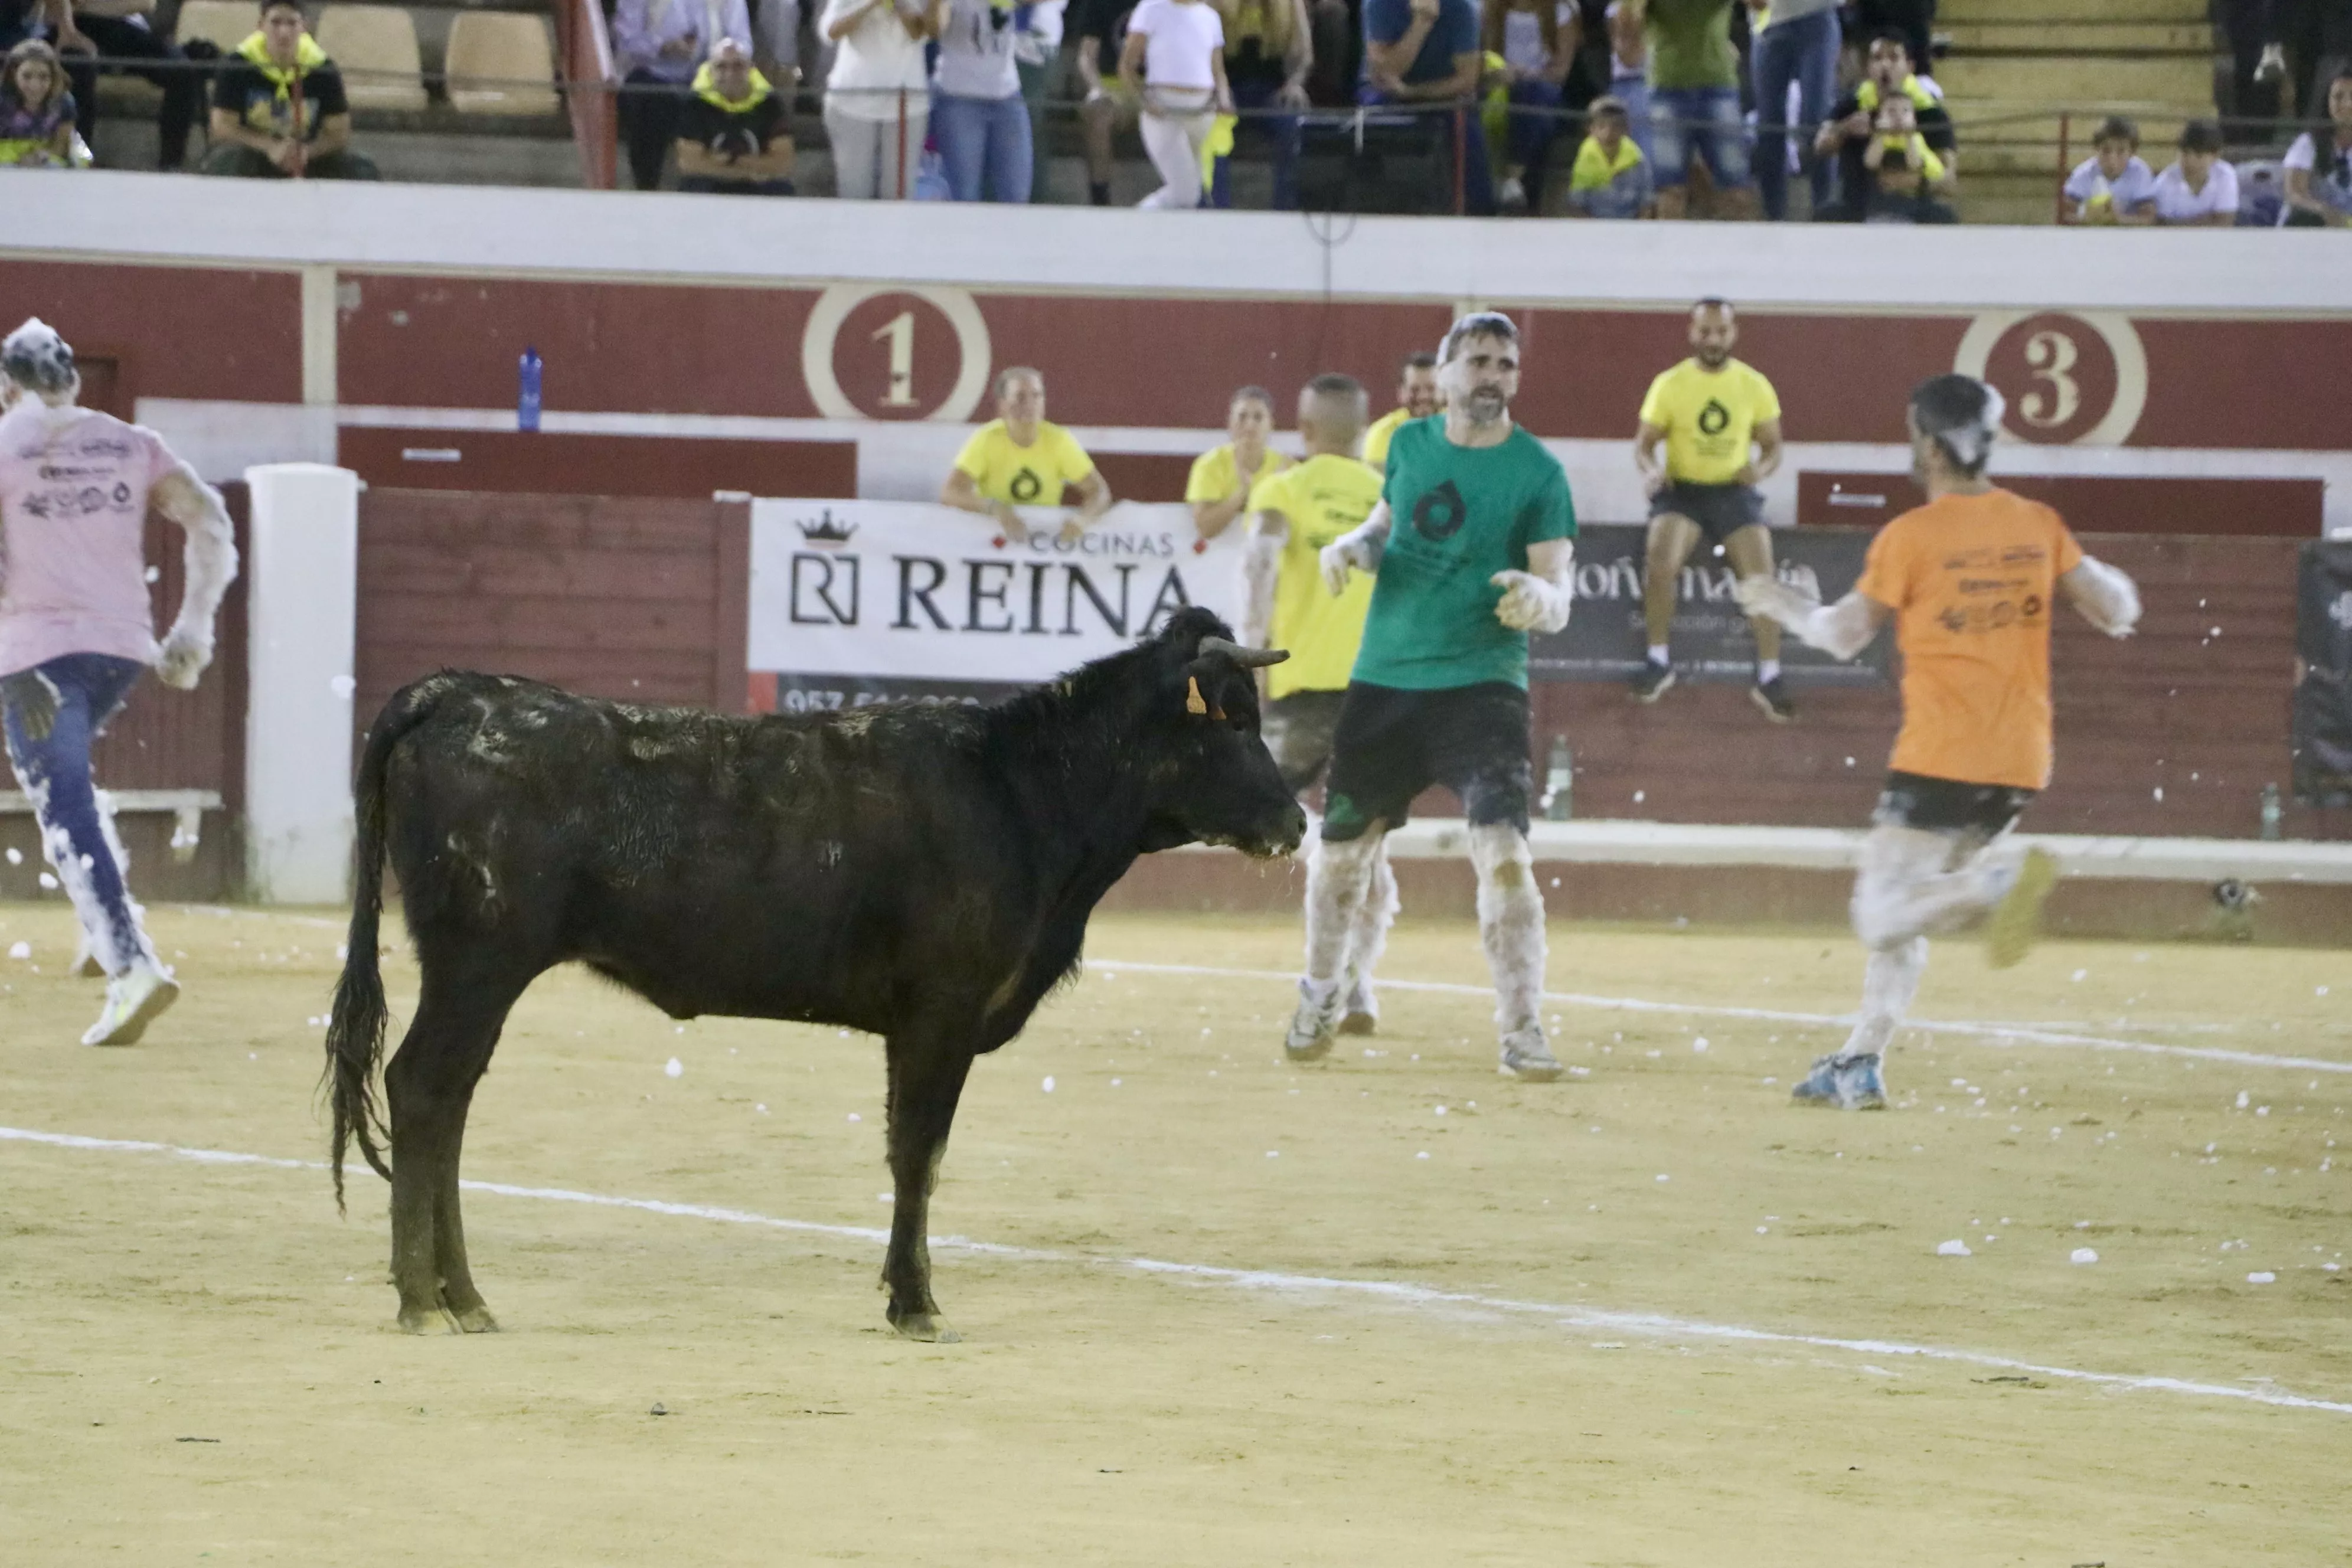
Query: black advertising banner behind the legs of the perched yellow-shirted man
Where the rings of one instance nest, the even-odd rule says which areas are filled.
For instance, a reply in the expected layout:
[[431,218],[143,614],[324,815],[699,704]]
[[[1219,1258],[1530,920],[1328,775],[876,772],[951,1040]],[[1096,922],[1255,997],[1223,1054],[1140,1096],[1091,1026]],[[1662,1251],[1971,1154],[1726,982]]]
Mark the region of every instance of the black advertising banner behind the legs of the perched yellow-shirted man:
[[[1538,682],[1630,679],[1649,649],[1642,623],[1642,564],[1649,529],[1642,524],[1590,524],[1576,534],[1576,614],[1569,630],[1536,637],[1529,675]],[[1863,529],[1773,529],[1773,564],[1780,581],[1835,604],[1863,576],[1870,534]],[[1875,686],[1886,679],[1893,635],[1839,663],[1780,639],[1780,670],[1792,686]],[[1682,569],[1675,595],[1675,670],[1682,679],[1750,682],[1757,644],[1731,597],[1731,564],[1700,543]]]

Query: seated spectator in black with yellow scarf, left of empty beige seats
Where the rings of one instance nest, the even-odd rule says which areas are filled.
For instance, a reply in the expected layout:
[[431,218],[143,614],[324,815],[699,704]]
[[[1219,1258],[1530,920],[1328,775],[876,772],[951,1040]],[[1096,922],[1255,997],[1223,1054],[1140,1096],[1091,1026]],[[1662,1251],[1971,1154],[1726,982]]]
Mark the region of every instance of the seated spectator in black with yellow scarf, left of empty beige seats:
[[350,150],[343,73],[310,38],[296,0],[261,0],[261,31],[212,78],[205,174],[381,179]]

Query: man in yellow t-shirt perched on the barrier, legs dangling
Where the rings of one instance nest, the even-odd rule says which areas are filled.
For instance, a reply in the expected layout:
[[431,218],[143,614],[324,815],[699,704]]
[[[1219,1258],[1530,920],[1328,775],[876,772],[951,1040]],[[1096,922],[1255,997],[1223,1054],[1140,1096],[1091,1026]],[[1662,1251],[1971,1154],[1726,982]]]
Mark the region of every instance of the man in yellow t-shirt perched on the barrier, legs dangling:
[[[1740,341],[1729,301],[1691,308],[1691,357],[1649,383],[1632,461],[1649,487],[1649,562],[1642,571],[1642,618],[1649,656],[1632,677],[1637,703],[1656,703],[1675,684],[1668,637],[1682,564],[1705,538],[1743,576],[1771,576],[1771,534],[1757,484],[1780,468],[1780,397],[1771,381],[1731,357]],[[1663,456],[1661,456],[1663,447]],[[1748,696],[1773,724],[1797,717],[1780,684],[1780,628],[1750,621],[1757,635],[1757,682]]]

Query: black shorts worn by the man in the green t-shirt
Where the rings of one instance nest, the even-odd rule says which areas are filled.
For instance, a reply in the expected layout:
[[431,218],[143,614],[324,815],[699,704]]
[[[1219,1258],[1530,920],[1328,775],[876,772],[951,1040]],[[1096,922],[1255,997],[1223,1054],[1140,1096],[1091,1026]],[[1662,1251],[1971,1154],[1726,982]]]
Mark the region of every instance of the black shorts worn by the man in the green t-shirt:
[[1526,832],[1536,785],[1526,736],[1526,691],[1510,682],[1444,691],[1352,684],[1331,736],[1322,837],[1345,844],[1376,820],[1402,827],[1430,785],[1461,795],[1472,825]]

